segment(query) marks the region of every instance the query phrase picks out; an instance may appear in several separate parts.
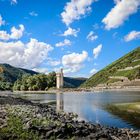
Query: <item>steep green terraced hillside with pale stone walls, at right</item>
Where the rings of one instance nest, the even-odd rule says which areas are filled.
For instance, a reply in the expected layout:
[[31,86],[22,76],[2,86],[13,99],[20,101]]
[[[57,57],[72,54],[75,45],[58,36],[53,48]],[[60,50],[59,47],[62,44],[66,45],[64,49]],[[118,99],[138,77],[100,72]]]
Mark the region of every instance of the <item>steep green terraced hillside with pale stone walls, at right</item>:
[[140,86],[140,47],[91,76],[81,87],[104,85]]

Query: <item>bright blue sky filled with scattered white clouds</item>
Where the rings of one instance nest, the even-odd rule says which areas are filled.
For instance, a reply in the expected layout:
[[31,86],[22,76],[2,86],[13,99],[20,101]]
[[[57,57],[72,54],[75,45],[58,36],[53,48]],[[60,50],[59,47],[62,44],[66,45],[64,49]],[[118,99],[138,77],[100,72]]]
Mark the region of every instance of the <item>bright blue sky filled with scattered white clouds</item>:
[[90,77],[140,46],[140,0],[0,0],[0,63]]

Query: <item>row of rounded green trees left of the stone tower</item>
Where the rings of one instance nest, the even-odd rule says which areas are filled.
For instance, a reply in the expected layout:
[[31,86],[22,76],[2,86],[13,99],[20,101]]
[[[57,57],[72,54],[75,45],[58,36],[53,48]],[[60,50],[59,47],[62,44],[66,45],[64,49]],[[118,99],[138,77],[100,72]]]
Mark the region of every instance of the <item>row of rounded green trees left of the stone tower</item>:
[[56,73],[52,72],[48,75],[36,74],[36,75],[23,75],[21,79],[18,79],[14,85],[13,90],[19,91],[37,91],[48,90],[51,87],[56,87]]

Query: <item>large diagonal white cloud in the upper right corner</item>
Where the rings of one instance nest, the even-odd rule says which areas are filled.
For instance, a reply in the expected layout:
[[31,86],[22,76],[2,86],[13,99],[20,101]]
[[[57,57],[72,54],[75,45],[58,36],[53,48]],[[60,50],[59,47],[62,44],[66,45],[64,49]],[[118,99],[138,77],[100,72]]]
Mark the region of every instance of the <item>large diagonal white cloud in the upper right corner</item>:
[[[116,1],[117,2],[117,1]],[[121,0],[102,20],[106,29],[117,28],[124,23],[128,17],[137,12],[140,0]]]

